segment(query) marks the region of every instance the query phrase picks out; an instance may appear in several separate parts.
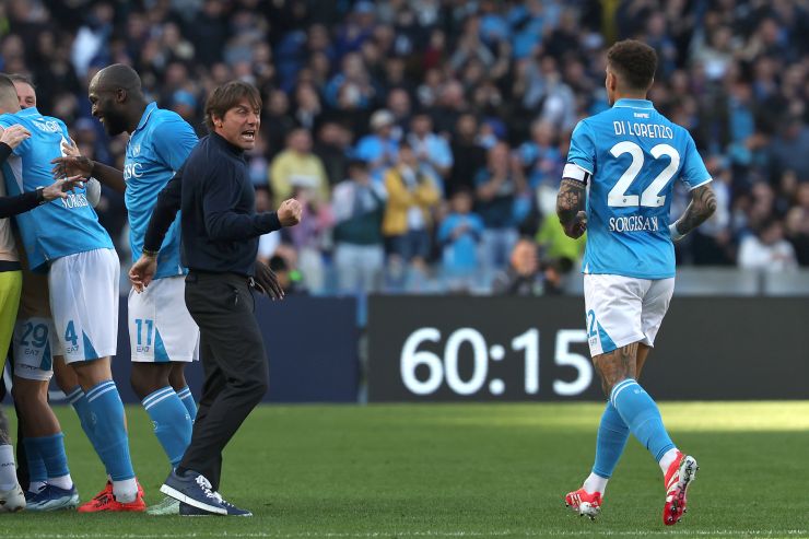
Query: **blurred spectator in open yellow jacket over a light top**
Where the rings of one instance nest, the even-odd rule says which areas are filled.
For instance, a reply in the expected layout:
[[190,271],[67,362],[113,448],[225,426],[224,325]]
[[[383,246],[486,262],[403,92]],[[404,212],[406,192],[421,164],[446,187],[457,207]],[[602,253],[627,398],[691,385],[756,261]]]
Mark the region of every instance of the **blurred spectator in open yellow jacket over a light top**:
[[399,145],[399,161],[385,173],[388,195],[383,234],[388,241],[394,266],[411,263],[424,269],[430,255],[432,209],[441,199],[433,178],[420,169],[409,143]]

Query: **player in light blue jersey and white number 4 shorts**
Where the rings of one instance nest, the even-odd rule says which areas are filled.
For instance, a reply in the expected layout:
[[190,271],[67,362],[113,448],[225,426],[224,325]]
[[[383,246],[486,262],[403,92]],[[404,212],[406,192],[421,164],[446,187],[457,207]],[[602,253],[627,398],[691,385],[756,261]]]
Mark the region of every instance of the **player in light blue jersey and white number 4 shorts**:
[[[69,140],[65,124],[35,107],[21,110],[14,85],[3,86],[0,127],[20,124],[31,138],[3,165],[12,194],[49,185],[50,161]],[[112,476],[121,511],[144,511],[129,457],[124,405],[113,382],[110,356],[118,333],[120,267],[107,232],[87,202],[85,189],[21,215],[17,225],[33,271],[48,270],[51,314],[63,355],[86,394],[94,447]]]

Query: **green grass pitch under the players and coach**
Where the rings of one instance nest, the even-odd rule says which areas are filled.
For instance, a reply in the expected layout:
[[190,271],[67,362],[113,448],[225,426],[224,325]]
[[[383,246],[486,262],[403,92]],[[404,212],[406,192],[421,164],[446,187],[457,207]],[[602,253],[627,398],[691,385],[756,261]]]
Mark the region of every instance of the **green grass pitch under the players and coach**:
[[[593,461],[597,403],[261,407],[225,453],[222,492],[254,518],[0,515],[0,537],[809,537],[809,402],[663,403],[696,456],[690,511],[663,526],[657,464],[631,441],[601,517],[562,504]],[[104,483],[73,412],[57,410],[82,501]],[[146,502],[167,472],[127,410]]]

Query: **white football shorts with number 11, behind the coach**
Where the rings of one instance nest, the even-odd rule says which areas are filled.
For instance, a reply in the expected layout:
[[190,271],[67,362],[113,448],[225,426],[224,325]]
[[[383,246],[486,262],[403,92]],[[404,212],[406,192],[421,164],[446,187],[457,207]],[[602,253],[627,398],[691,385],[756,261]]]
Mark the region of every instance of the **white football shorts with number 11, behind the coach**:
[[129,291],[129,344],[132,361],[195,361],[199,328],[186,307],[184,276],[152,281],[140,294]]

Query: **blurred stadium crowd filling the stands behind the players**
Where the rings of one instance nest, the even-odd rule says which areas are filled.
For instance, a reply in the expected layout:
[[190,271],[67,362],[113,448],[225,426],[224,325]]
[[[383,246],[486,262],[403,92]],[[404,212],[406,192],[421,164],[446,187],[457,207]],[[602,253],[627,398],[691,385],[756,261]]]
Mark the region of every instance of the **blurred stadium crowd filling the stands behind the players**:
[[[214,86],[256,84],[258,209],[305,207],[259,257],[293,291],[554,293],[583,249],[553,211],[570,136],[608,106],[603,52],[628,37],[657,50],[649,97],[714,177],[678,261],[809,266],[807,27],[789,0],[9,0],[0,71],[118,168],[126,140],[86,99],[98,69],[131,65],[200,136]],[[128,260],[121,197],[97,212]]]

